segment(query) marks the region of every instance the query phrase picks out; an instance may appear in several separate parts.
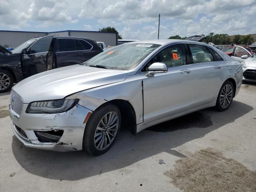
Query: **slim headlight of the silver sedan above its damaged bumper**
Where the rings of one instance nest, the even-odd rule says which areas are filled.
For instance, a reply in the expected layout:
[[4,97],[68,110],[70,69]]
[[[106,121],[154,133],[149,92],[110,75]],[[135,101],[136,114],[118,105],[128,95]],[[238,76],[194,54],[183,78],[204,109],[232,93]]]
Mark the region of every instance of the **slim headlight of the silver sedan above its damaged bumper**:
[[28,105],[26,113],[61,113],[78,103],[79,99],[60,99],[52,101],[37,101]]

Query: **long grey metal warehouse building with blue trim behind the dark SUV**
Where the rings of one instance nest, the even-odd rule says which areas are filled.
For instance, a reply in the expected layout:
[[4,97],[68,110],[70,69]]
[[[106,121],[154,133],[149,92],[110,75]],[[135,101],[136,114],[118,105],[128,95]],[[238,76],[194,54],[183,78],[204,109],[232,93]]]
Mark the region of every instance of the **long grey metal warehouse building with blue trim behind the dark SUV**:
[[16,48],[18,45],[32,38],[39,38],[46,35],[55,34],[56,36],[79,36],[104,42],[109,46],[118,44],[118,32],[99,32],[99,31],[77,31],[66,30],[56,32],[31,32],[31,31],[6,31],[0,30],[0,45],[8,48]]

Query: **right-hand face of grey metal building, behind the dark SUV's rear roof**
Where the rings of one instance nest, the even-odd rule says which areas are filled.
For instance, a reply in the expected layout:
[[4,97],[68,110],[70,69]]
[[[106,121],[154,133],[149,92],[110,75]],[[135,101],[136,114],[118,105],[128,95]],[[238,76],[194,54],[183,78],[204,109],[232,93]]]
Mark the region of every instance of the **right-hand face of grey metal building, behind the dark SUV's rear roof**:
[[104,42],[109,46],[116,46],[116,33],[70,31],[70,36],[86,37],[96,41]]

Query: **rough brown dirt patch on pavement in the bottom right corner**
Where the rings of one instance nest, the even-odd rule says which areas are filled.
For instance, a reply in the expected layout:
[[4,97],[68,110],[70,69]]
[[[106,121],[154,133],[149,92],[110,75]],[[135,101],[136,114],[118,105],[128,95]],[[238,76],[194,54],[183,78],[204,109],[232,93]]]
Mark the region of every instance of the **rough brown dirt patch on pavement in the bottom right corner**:
[[176,160],[165,175],[184,192],[256,192],[256,172],[213,149]]

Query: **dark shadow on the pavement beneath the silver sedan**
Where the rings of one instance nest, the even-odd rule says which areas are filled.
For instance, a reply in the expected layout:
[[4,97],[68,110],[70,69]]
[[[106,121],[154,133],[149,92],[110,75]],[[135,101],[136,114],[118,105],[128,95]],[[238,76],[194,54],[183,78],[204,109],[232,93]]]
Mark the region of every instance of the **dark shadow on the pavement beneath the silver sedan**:
[[83,151],[61,153],[27,148],[15,136],[12,151],[22,168],[31,174],[56,180],[80,180],[126,168],[161,152],[184,158],[186,156],[172,149],[204,137],[251,110],[251,106],[234,101],[225,112],[217,112],[213,108],[201,110],[153,126],[135,136],[122,130],[113,147],[97,157]]

